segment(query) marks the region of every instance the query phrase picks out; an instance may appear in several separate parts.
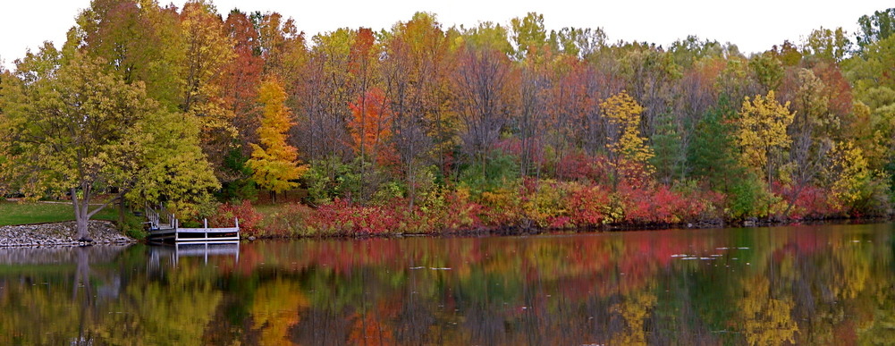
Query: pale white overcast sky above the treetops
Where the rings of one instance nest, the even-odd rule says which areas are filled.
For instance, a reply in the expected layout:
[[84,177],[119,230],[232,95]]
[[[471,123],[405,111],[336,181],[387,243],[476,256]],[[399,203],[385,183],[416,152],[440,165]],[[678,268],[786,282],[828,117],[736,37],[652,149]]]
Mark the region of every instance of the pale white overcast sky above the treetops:
[[[168,4],[169,0],[159,1]],[[90,0],[0,0],[0,60],[13,61],[45,40],[61,46],[74,17]],[[173,4],[183,6],[183,0]],[[548,30],[602,27],[610,42],[647,41],[668,46],[696,35],[731,42],[748,54],[788,39],[800,42],[811,30],[842,27],[853,33],[857,18],[889,7],[892,0],[216,0],[219,13],[275,11],[293,17],[310,38],[342,27],[390,28],[413,13],[435,13],[445,28],[479,21],[505,24],[537,12]]]

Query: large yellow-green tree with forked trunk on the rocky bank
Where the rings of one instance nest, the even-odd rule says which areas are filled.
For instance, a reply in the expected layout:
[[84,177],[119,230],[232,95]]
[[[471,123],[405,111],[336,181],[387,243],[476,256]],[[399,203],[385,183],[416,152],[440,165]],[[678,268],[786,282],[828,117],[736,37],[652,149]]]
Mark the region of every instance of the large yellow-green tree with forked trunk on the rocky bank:
[[[129,85],[103,72],[105,63],[81,54],[62,63],[45,49],[19,64],[19,83],[3,95],[8,108],[0,132],[12,140],[0,147],[10,160],[0,175],[30,198],[47,191],[70,194],[81,241],[90,241],[90,217],[132,189],[145,164],[147,122],[158,112],[142,83]],[[30,69],[41,64],[55,68]],[[119,194],[91,209],[109,187]]]

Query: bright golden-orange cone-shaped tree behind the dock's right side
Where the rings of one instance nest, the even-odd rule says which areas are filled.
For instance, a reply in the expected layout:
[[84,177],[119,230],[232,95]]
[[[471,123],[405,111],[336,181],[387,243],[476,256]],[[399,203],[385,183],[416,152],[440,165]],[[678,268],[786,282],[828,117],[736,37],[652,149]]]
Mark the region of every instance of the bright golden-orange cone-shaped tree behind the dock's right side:
[[[258,128],[260,144],[251,144],[253,151],[248,162],[253,178],[263,189],[277,192],[292,189],[294,182],[308,170],[307,165],[297,165],[298,150],[286,143],[286,131],[294,123],[289,120],[286,107],[286,90],[283,83],[272,76],[261,83],[258,99],[264,107]],[[263,146],[263,147],[262,147]]]

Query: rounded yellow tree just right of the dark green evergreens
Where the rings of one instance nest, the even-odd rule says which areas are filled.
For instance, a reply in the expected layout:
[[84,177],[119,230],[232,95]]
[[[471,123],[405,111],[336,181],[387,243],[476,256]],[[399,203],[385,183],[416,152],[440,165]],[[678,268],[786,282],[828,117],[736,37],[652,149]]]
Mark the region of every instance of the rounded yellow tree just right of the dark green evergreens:
[[770,185],[774,168],[792,143],[787,128],[795,113],[789,111],[788,102],[780,105],[771,90],[767,96],[746,97],[739,115],[737,142],[742,149],[742,161],[747,167],[765,173]]

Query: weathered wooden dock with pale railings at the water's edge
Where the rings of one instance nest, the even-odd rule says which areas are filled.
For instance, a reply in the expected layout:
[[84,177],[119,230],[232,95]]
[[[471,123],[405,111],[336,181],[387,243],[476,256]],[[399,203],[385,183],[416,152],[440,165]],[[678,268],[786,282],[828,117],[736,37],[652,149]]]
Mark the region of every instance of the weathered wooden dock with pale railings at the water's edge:
[[166,243],[209,243],[223,244],[239,242],[239,219],[234,219],[234,227],[211,228],[209,221],[203,221],[201,228],[181,227],[175,215],[162,213],[147,207],[149,219],[149,241]]

